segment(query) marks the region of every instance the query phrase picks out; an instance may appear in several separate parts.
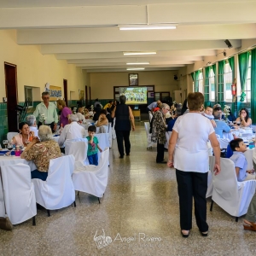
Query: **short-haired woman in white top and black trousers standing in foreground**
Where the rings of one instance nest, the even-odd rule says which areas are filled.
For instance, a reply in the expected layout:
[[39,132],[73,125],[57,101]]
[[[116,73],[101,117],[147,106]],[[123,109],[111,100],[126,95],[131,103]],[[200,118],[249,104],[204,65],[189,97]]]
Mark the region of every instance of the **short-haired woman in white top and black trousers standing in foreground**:
[[167,166],[176,168],[180,226],[183,237],[188,237],[192,228],[193,197],[196,224],[201,236],[208,234],[206,199],[209,170],[208,140],[212,144],[215,155],[215,175],[220,172],[218,140],[212,123],[200,113],[203,104],[204,96],[201,92],[189,93],[189,113],[177,118],[169,143]]

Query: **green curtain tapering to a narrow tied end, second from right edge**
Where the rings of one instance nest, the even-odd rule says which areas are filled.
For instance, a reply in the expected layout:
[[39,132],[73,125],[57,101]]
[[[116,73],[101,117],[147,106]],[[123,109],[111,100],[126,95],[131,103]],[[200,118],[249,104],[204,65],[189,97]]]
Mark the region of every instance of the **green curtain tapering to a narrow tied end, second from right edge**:
[[250,53],[244,52],[241,55],[238,55],[238,67],[240,73],[240,83],[241,83],[241,98],[240,102],[244,101],[244,93],[245,84],[247,82],[247,71],[248,71],[248,64],[249,64],[249,55]]

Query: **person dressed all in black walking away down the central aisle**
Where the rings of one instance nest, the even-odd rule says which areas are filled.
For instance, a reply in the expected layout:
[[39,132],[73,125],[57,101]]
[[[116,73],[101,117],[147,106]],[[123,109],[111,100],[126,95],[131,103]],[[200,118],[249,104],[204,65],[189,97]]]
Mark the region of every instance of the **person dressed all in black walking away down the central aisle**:
[[[120,104],[113,108],[112,118],[115,117],[114,130],[116,133],[118,148],[119,148],[119,158],[124,158],[124,154],[130,154],[131,143],[130,143],[130,131],[132,126],[132,131],[135,131],[134,117],[131,108],[125,105],[126,97],[124,95],[119,96]],[[124,143],[125,141],[125,152]]]

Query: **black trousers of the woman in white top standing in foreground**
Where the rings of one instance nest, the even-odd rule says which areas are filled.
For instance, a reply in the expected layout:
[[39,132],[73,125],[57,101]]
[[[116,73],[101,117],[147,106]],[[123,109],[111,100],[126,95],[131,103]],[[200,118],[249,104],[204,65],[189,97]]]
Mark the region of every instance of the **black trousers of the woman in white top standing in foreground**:
[[191,230],[192,228],[192,204],[194,197],[196,224],[201,232],[208,231],[207,177],[208,172],[183,172],[176,169],[181,230]]

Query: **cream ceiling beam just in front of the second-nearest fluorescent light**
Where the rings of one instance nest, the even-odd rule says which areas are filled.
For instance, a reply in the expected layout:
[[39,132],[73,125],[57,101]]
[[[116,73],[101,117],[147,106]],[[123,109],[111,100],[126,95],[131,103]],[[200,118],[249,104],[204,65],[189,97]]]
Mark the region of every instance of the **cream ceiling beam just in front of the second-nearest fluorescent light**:
[[[230,40],[234,48],[241,47],[241,40]],[[226,49],[224,40],[202,41],[165,41],[165,42],[131,42],[112,44],[43,44],[41,53],[67,54],[67,53],[96,53],[116,51],[154,51],[154,50],[186,50],[186,49]]]

